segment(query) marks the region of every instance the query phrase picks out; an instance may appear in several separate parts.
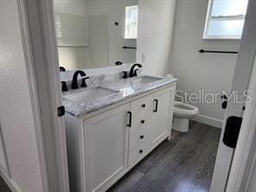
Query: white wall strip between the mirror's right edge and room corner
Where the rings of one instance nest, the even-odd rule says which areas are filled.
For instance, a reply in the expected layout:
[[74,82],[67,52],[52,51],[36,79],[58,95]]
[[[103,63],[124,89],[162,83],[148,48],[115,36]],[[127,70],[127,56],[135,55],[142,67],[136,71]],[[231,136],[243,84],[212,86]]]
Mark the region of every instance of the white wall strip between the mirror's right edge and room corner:
[[145,74],[168,74],[176,0],[139,0],[138,9],[137,61]]

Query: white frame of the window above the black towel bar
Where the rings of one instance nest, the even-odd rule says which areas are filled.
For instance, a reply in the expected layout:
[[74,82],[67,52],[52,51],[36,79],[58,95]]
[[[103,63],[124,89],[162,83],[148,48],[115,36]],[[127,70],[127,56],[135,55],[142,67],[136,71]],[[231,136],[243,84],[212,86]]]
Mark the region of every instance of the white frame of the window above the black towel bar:
[[241,35],[208,35],[208,26],[210,21],[232,21],[232,20],[244,20],[246,19],[246,15],[238,15],[238,16],[216,16],[212,17],[214,0],[208,1],[208,10],[207,16],[203,29],[203,40],[240,40]]

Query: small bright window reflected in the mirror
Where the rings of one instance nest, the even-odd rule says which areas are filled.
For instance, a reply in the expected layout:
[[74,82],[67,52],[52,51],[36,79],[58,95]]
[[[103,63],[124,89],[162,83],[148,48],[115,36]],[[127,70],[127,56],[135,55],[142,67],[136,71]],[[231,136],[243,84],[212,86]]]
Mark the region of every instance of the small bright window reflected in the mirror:
[[137,39],[138,5],[125,8],[125,39]]

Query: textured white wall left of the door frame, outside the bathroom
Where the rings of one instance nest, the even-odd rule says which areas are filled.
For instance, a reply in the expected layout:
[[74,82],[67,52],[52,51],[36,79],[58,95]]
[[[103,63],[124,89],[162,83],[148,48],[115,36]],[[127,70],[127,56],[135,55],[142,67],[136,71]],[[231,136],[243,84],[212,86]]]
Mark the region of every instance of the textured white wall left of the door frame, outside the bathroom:
[[29,80],[16,0],[0,1],[0,122],[10,176],[23,192],[43,192]]

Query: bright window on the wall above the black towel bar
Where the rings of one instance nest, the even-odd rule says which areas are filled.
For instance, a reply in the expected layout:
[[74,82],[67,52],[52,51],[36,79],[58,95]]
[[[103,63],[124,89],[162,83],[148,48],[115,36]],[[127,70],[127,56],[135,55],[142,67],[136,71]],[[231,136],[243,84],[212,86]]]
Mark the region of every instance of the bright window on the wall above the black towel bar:
[[240,39],[248,0],[209,0],[204,39]]

